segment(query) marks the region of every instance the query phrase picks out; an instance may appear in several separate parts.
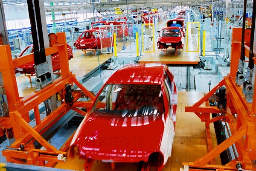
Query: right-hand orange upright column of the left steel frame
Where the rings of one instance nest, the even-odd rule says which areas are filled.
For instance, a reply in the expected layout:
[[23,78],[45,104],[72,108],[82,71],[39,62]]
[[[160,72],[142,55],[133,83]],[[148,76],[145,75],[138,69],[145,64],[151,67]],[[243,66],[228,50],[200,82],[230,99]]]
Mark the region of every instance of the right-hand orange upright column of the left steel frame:
[[64,75],[67,75],[69,70],[69,64],[68,64],[68,55],[67,55],[67,42],[66,42],[66,36],[64,32],[57,33],[58,43],[61,43],[63,45],[58,45],[58,52],[59,57],[64,58],[60,59],[60,65],[61,65],[61,75],[62,77]]

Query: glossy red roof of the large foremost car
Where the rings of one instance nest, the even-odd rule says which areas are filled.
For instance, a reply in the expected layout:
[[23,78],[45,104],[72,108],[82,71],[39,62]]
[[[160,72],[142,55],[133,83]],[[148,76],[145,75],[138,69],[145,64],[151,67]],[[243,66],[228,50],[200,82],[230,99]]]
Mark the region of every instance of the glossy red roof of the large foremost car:
[[106,84],[162,84],[163,64],[130,64],[117,70]]

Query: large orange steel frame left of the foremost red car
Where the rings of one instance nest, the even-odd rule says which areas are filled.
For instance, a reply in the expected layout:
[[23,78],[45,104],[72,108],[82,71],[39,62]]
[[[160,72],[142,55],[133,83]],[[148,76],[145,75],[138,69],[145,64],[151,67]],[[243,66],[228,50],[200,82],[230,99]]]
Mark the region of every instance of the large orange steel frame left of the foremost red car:
[[[12,134],[15,137],[15,142],[10,146],[10,148],[2,151],[3,156],[6,157],[8,162],[47,167],[52,167],[56,162],[64,162],[62,160],[58,160],[57,156],[58,154],[67,156],[66,151],[69,148],[73,136],[67,139],[67,142],[65,142],[58,150],[54,146],[50,145],[42,137],[42,134],[61,119],[61,117],[70,109],[85,115],[86,112],[77,107],[87,108],[88,111],[90,109],[91,102],[77,101],[80,97],[86,95],[91,100],[95,98],[95,96],[93,96],[82,86],[81,83],[79,83],[79,81],[76,80],[75,75],[73,75],[69,70],[65,33],[57,33],[57,36],[58,44],[47,48],[46,55],[51,55],[56,52],[59,53],[61,56],[61,77],[57,78],[52,84],[49,84],[42,90],[31,93],[22,99],[19,97],[14,68],[30,61],[34,61],[34,54],[32,53],[21,58],[12,59],[10,46],[0,46],[0,71],[3,76],[6,95],[9,101],[9,117],[0,117],[0,128],[2,130],[12,128]],[[70,107],[68,104],[62,103],[45,119],[41,120],[38,105],[49,99],[51,96],[54,96],[56,93],[64,93],[63,91],[66,84],[76,84],[81,89],[81,91],[75,91],[75,93],[73,93],[73,106]],[[28,122],[30,122],[29,111],[32,109],[34,109],[36,121],[34,128],[28,124]],[[7,137],[8,136],[9,134],[7,133]],[[33,144],[35,141],[39,142],[46,150],[36,149]],[[12,150],[12,148],[20,148],[20,145],[25,147],[23,151]],[[48,162],[46,163],[46,161]]]

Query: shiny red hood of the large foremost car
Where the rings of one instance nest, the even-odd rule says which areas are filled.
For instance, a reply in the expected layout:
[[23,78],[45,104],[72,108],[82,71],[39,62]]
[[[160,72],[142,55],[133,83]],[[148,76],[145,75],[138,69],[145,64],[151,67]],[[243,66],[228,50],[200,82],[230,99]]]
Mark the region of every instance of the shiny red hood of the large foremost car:
[[80,155],[98,160],[147,161],[160,151],[164,122],[161,116],[114,117],[92,113],[79,126],[71,146]]

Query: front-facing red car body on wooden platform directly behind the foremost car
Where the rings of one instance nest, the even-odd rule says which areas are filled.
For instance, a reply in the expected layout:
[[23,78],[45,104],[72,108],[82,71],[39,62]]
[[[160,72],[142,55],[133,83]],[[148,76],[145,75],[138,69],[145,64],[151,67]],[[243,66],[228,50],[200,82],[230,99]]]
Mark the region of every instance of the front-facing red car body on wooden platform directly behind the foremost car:
[[157,48],[168,49],[169,46],[175,49],[183,49],[183,43],[181,41],[183,32],[180,27],[165,27],[163,28],[158,36]]

